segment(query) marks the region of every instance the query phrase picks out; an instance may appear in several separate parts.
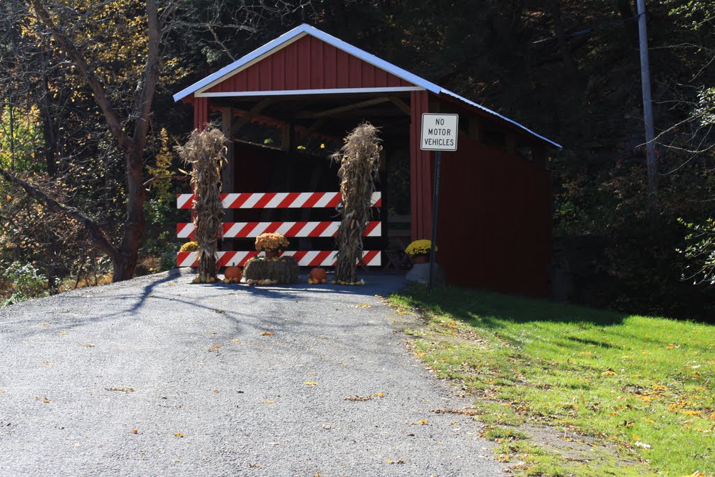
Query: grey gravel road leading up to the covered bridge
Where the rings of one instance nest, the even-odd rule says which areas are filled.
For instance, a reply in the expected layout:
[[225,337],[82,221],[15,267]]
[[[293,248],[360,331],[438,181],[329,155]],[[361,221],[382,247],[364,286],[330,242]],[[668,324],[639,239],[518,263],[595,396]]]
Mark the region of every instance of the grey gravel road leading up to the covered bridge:
[[503,475],[479,423],[432,412],[467,403],[375,296],[403,281],[366,278],[174,270],[0,310],[0,476]]

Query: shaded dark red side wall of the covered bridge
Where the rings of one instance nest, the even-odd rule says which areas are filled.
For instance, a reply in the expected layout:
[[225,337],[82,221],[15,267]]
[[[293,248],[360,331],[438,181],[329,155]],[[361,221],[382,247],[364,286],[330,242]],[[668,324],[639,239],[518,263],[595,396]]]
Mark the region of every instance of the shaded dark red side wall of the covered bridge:
[[443,152],[437,243],[449,282],[548,295],[551,180],[546,169],[460,134]]

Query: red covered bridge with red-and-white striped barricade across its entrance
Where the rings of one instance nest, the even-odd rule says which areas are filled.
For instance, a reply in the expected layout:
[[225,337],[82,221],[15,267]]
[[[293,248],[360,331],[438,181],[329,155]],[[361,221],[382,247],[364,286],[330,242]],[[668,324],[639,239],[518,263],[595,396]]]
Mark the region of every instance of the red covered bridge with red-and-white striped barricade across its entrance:
[[[365,262],[399,265],[397,250],[431,236],[434,153],[420,149],[421,116],[442,112],[459,115],[458,150],[443,153],[440,182],[437,261],[448,282],[547,294],[546,158],[560,146],[546,137],[307,24],[174,100],[193,105],[194,127],[220,122],[231,139],[222,265],[241,264],[252,237],[274,231],[292,237],[301,265],[330,264],[339,185],[327,157],[364,121],[380,128],[384,146]],[[178,228],[190,236],[190,225]]]

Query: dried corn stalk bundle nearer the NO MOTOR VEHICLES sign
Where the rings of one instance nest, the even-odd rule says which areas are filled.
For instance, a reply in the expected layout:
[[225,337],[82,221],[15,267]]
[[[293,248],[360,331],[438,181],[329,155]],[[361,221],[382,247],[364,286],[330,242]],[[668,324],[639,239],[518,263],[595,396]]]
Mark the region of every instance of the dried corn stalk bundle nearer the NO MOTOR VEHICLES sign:
[[365,122],[352,129],[345,144],[332,159],[340,164],[342,220],[337,232],[337,264],[335,280],[352,283],[356,280],[355,264],[363,259],[363,231],[372,212],[371,199],[380,167],[378,128]]

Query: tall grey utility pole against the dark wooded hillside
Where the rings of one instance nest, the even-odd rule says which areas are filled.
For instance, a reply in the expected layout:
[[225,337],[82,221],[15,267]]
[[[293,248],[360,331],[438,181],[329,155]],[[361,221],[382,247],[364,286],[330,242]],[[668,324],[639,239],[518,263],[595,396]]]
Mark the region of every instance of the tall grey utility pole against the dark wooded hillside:
[[658,209],[656,207],[656,149],[653,128],[653,103],[651,102],[651,71],[648,60],[648,31],[646,29],[646,0],[638,0],[638,44],[641,51],[641,89],[643,91],[643,117],[646,125],[646,164],[648,165],[648,202],[651,225],[656,227]]

